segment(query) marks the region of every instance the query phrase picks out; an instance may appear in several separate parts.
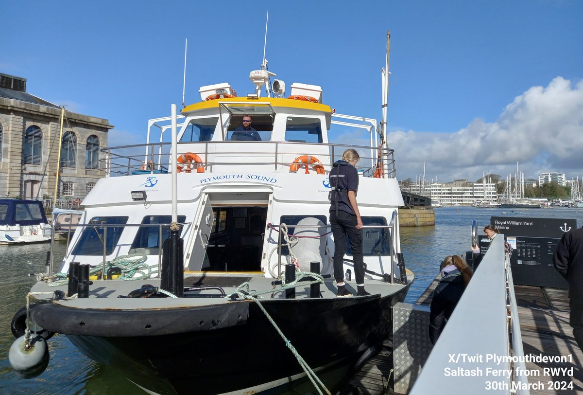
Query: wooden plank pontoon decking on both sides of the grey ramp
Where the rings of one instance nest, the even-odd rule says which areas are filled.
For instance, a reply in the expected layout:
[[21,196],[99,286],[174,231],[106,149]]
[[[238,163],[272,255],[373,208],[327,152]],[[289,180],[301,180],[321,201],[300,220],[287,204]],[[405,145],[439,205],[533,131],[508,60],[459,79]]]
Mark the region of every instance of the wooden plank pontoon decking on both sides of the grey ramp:
[[[417,299],[416,305],[429,306],[433,290],[438,284],[434,279],[426,291]],[[525,355],[570,356],[570,362],[527,362],[526,369],[534,374],[528,382],[542,382],[544,389],[531,389],[532,395],[567,395],[583,394],[583,352],[573,338],[569,326],[568,291],[566,289],[543,288],[539,286],[515,285],[518,314],[522,332],[522,345]],[[391,352],[381,352],[363,366],[350,380],[346,390],[341,394],[394,394],[391,369],[393,357]],[[561,373],[556,376],[543,374],[543,368],[574,368],[573,377]],[[538,376],[536,375],[538,372]],[[559,385],[561,382],[573,382],[573,390],[566,388],[549,388],[549,382]],[[357,391],[357,392],[356,392]]]

